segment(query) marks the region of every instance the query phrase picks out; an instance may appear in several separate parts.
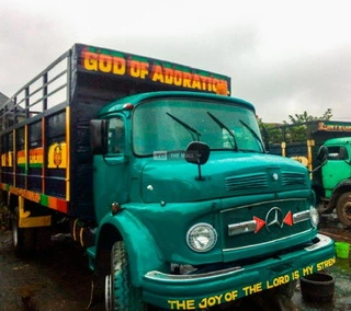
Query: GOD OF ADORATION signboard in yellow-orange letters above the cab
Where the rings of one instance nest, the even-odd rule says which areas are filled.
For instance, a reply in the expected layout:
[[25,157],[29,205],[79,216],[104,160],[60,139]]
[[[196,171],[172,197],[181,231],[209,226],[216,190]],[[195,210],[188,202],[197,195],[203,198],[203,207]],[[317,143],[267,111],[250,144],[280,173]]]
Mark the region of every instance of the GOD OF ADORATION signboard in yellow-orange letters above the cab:
[[83,70],[129,78],[154,84],[168,84],[210,93],[230,95],[230,78],[169,61],[127,53],[77,45]]

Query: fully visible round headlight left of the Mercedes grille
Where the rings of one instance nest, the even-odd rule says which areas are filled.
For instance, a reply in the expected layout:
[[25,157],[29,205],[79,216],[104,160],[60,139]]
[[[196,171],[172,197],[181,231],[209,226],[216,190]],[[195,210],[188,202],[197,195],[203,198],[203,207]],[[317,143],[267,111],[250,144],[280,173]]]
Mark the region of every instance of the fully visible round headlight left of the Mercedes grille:
[[186,243],[196,252],[207,252],[217,242],[217,232],[208,223],[201,222],[191,227],[186,233]]

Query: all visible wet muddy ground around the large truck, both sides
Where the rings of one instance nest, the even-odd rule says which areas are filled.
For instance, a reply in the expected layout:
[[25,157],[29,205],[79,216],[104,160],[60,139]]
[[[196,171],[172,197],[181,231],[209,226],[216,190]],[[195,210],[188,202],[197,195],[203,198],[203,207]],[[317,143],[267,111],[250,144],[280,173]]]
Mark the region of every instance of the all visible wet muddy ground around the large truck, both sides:
[[[325,219],[320,231],[335,240],[351,242],[351,232],[342,229],[335,219]],[[285,310],[351,310],[349,261],[338,261],[330,273],[337,278],[337,292],[331,303],[308,304],[303,300],[297,287],[293,303],[286,304]],[[45,250],[39,250],[33,257],[18,258],[12,251],[11,232],[5,223],[0,221],[0,311],[86,310],[89,303],[90,280],[88,261],[79,245],[64,239],[52,243]],[[100,304],[90,310],[103,309],[103,304]],[[254,306],[254,310],[263,309]]]

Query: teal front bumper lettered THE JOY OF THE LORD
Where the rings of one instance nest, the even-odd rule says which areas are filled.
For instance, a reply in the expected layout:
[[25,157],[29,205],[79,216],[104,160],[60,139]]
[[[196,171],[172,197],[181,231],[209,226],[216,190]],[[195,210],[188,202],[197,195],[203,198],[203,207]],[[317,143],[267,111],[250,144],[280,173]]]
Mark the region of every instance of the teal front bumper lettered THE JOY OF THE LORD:
[[278,287],[336,263],[333,241],[322,234],[299,251],[206,274],[168,275],[149,272],[143,278],[146,302],[171,310],[208,308]]

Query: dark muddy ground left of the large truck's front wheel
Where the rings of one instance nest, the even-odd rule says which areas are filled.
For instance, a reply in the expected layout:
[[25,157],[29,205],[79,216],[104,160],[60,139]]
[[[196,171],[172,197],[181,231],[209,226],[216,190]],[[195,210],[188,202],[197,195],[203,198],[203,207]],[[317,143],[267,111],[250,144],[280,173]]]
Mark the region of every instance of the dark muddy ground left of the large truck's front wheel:
[[90,279],[87,258],[73,243],[55,243],[35,257],[18,258],[11,232],[1,230],[0,311],[86,310]]

